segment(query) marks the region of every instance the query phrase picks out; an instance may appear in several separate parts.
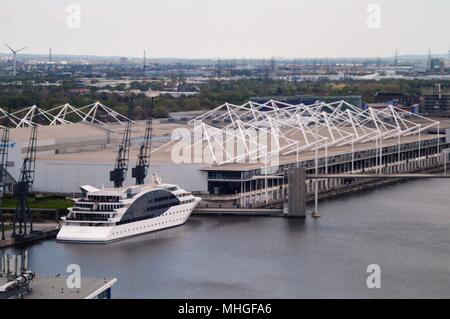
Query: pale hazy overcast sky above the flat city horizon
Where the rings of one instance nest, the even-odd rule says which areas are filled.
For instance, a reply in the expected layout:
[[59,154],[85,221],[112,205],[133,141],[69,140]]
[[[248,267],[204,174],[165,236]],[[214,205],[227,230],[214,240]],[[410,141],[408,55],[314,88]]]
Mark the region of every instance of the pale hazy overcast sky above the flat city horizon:
[[0,0],[0,42],[154,58],[446,53],[450,0]]

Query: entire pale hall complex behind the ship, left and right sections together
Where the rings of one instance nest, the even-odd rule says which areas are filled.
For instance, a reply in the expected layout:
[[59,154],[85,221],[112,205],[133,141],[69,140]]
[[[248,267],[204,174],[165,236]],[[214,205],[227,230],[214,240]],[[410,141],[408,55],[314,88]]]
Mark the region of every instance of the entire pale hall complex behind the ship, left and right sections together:
[[[77,115],[78,122],[69,122],[69,116],[77,114],[70,107],[59,121],[54,121],[56,115],[45,113],[50,122],[38,128],[33,191],[73,194],[80,185],[111,186],[109,171],[125,119],[113,113],[114,122],[97,121],[94,118],[98,117],[83,116],[89,110]],[[19,174],[31,119],[16,119],[15,123],[22,124],[11,129],[8,173],[12,180]],[[187,123],[155,120],[150,173],[156,172],[163,182],[201,193],[205,201],[251,205],[284,196],[290,167],[304,167],[307,174],[393,173],[434,167],[449,145],[448,124],[394,106],[362,110],[346,101],[225,103]],[[144,131],[145,123],[133,124],[130,167]],[[183,140],[189,143],[182,144]],[[196,158],[196,149],[200,158]],[[130,171],[125,185],[134,184]],[[348,183],[345,179],[319,182],[321,190]],[[310,181],[307,190],[312,191]]]

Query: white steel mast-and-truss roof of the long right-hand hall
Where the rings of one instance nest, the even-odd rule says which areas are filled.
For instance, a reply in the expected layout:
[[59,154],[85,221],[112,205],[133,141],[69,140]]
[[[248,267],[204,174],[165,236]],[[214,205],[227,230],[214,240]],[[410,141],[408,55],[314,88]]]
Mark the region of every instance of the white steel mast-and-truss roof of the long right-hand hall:
[[[413,119],[419,119],[420,123]],[[213,164],[250,162],[289,155],[419,135],[439,122],[396,108],[360,109],[346,101],[292,105],[270,100],[264,104],[225,103],[191,120],[201,130],[202,145]],[[199,132],[197,131],[197,132]],[[261,135],[267,138],[261,138]],[[270,140],[270,141],[268,141]],[[230,147],[231,145],[231,147]],[[233,146],[238,145],[238,146]],[[232,152],[236,147],[241,152]],[[231,151],[230,151],[231,150]]]

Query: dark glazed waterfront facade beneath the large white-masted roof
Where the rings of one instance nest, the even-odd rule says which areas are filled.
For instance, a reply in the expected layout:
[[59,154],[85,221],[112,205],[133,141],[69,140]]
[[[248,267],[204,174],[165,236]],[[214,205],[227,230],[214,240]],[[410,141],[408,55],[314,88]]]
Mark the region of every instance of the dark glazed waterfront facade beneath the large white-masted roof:
[[[439,144],[439,150],[438,150]],[[436,164],[438,153],[450,147],[446,138],[442,135],[428,135],[421,140],[411,139],[401,144],[389,143],[380,149],[375,145],[356,150],[352,156],[351,152],[335,153],[324,157],[323,152],[319,155],[319,174],[338,174],[346,172],[354,173],[376,173],[379,169],[385,173],[396,173],[413,171],[420,167]],[[353,158],[353,165],[352,165]],[[285,189],[287,185],[287,170],[290,167],[304,167],[307,174],[315,173],[314,154],[302,156],[303,160],[297,162],[283,162],[277,167],[268,168],[270,174],[267,178],[267,187]],[[266,188],[265,167],[251,167],[250,165],[231,164],[224,167],[210,167],[205,169],[208,172],[208,191],[214,195],[234,195],[249,191],[257,191]],[[282,179],[276,178],[278,175]],[[333,186],[344,185],[344,179],[331,181]],[[323,185],[322,185],[323,184]],[[321,183],[321,188],[325,188],[325,183]],[[312,191],[308,185],[308,191]]]

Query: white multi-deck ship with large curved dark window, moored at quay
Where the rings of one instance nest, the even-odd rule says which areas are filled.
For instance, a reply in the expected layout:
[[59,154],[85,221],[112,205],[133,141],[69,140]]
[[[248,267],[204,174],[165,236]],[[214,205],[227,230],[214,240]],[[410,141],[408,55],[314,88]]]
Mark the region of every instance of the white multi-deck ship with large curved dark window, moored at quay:
[[184,224],[201,198],[171,184],[81,187],[56,239],[107,243]]

